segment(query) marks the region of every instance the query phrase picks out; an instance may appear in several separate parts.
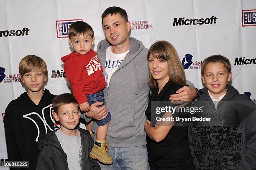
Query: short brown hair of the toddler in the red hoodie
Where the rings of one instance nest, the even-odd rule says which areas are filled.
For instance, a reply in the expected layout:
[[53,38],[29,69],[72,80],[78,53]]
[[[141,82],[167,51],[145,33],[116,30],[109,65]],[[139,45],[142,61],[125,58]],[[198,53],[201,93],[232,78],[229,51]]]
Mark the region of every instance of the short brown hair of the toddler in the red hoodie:
[[92,27],[84,21],[76,21],[69,26],[69,39],[77,35],[89,35],[91,38],[94,37]]

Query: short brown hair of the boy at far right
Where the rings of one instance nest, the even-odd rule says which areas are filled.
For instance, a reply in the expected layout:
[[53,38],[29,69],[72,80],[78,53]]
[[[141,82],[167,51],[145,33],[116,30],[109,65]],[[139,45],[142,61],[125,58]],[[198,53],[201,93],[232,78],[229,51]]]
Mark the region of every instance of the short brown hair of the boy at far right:
[[220,62],[224,64],[224,67],[226,69],[228,69],[228,72],[231,71],[231,65],[230,62],[228,60],[228,58],[222,56],[222,55],[212,55],[208,58],[205,58],[205,60],[202,62],[201,65],[201,75],[204,75],[204,71],[205,71],[205,67],[207,64],[209,64],[210,62]]

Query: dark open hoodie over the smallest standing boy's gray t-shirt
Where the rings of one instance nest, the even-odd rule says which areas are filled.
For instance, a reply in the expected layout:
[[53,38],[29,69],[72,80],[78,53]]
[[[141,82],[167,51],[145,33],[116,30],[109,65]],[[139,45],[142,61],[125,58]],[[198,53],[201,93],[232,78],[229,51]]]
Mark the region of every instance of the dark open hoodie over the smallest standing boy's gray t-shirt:
[[[82,170],[100,170],[96,160],[89,157],[93,147],[90,133],[82,128],[77,128],[81,136],[82,145]],[[55,134],[56,131],[39,137],[38,148],[41,151],[38,157],[37,170],[69,170],[67,154]]]

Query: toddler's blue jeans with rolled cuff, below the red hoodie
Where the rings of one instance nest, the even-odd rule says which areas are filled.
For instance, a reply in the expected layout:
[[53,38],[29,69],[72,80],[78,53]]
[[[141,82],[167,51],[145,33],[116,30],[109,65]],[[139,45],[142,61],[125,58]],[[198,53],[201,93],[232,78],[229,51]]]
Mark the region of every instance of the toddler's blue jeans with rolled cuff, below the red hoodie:
[[[102,90],[95,92],[93,94],[87,95],[87,100],[88,100],[89,105],[92,105],[95,102],[103,102],[103,104],[98,107],[102,107],[106,103],[105,99],[104,99],[104,93]],[[97,122],[98,126],[104,126],[110,121],[110,119],[111,119],[111,114],[110,114],[110,112],[108,112],[107,117],[105,117],[102,120],[96,120],[96,122]]]

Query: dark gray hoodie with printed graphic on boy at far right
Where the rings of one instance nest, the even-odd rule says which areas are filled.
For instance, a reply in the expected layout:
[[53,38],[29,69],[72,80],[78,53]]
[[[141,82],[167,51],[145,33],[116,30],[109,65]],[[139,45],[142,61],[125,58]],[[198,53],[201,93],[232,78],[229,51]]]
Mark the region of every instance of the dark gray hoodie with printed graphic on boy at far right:
[[200,116],[211,117],[189,128],[195,166],[200,170],[256,169],[256,105],[231,85],[215,106],[207,88],[200,90]]

